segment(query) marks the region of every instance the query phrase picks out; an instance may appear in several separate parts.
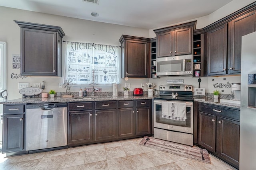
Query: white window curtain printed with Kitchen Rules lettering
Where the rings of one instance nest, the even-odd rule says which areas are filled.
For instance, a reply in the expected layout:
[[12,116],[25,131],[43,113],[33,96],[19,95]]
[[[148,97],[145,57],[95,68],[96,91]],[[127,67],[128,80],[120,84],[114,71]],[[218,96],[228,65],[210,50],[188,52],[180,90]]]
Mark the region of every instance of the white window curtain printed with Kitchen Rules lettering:
[[118,46],[66,42],[64,80],[74,85],[107,85],[120,82]]

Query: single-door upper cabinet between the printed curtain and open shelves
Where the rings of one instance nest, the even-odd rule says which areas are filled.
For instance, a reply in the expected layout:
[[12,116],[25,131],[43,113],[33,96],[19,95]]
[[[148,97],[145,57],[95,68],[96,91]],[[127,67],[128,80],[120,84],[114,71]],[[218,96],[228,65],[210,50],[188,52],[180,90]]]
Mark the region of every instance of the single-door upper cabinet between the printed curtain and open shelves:
[[150,78],[150,38],[122,35],[122,78]]

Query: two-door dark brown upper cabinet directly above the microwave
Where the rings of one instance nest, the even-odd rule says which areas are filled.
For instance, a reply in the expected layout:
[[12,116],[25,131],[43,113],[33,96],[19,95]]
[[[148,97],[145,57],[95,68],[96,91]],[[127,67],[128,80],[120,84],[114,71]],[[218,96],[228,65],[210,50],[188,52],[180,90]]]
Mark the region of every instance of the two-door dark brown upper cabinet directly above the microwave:
[[192,35],[196,21],[155,29],[157,57],[192,54]]

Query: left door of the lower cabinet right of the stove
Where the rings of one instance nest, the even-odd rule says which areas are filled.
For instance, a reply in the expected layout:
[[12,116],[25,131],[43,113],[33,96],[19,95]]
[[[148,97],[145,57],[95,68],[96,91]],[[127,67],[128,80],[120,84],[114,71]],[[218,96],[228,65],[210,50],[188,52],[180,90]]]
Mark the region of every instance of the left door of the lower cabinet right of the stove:
[[202,147],[215,152],[216,116],[199,111],[198,143]]

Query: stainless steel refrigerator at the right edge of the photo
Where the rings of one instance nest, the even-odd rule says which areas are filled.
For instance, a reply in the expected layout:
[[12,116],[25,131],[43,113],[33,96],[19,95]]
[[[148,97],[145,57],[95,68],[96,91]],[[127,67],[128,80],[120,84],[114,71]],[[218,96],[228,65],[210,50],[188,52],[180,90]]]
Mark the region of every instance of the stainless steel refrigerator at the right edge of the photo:
[[256,32],[242,37],[240,170],[256,169]]

